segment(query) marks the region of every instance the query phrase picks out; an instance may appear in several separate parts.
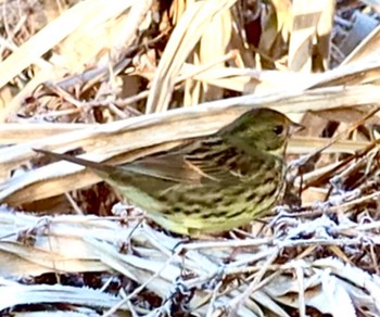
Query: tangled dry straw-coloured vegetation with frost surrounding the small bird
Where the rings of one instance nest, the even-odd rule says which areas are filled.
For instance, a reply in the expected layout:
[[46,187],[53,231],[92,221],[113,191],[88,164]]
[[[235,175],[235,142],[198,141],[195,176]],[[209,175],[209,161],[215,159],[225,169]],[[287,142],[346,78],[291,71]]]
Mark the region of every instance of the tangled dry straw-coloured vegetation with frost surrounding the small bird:
[[[359,1],[1,1],[0,310],[380,316],[379,8]],[[211,240],[164,232],[91,173],[252,106],[307,128],[288,202]],[[290,199],[291,198],[291,199]]]

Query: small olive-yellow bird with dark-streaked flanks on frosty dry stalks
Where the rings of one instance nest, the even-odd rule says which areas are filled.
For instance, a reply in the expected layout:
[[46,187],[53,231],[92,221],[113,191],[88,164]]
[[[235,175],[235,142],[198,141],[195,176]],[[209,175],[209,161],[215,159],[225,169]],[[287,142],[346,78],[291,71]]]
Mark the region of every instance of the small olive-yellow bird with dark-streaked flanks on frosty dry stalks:
[[253,109],[212,136],[121,166],[35,150],[92,169],[163,228],[199,237],[249,224],[283,195],[287,140],[301,125]]

